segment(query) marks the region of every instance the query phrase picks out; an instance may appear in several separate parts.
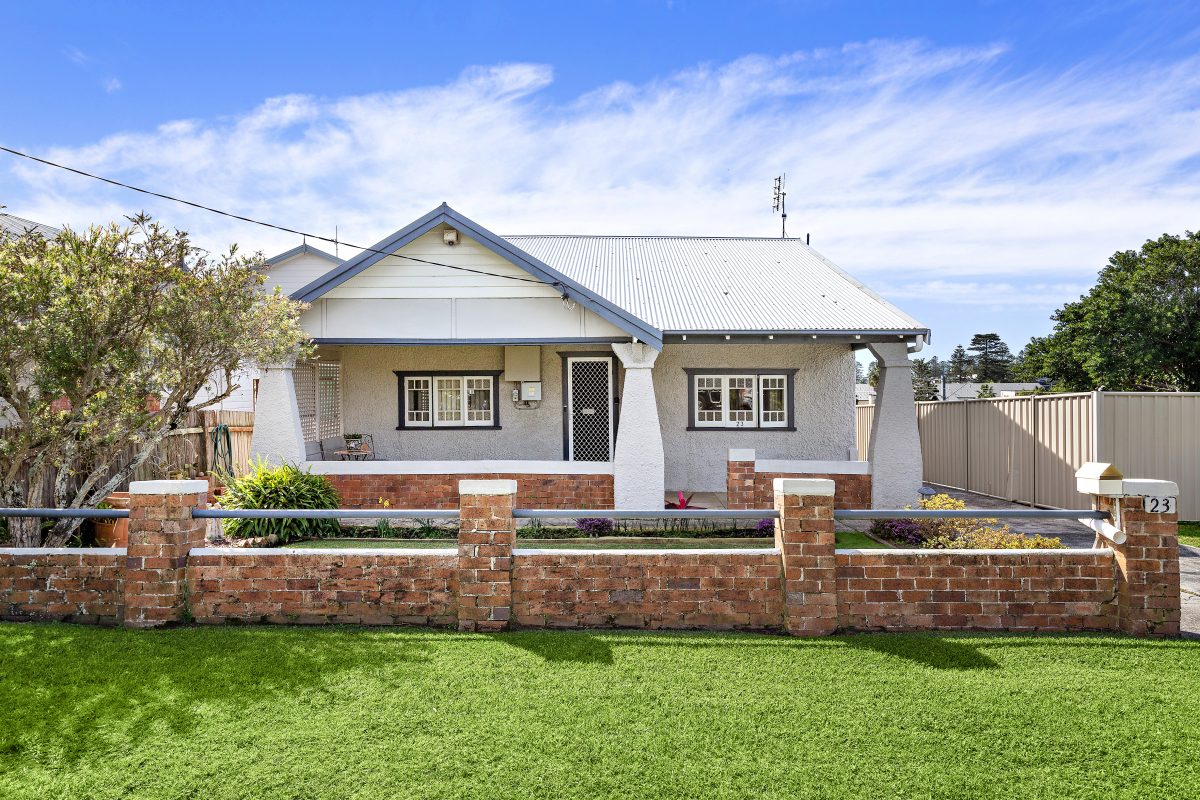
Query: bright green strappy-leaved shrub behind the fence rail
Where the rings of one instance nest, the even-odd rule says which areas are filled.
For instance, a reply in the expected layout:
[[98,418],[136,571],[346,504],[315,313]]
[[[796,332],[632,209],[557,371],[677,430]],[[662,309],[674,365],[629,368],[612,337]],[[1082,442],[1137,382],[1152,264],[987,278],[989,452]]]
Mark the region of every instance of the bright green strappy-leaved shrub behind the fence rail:
[[[241,477],[223,479],[222,509],[337,509],[342,498],[324,475],[314,475],[295,464],[271,467],[258,461]],[[342,531],[336,519],[223,519],[230,539],[278,537],[280,543],[295,539],[323,539]]]

